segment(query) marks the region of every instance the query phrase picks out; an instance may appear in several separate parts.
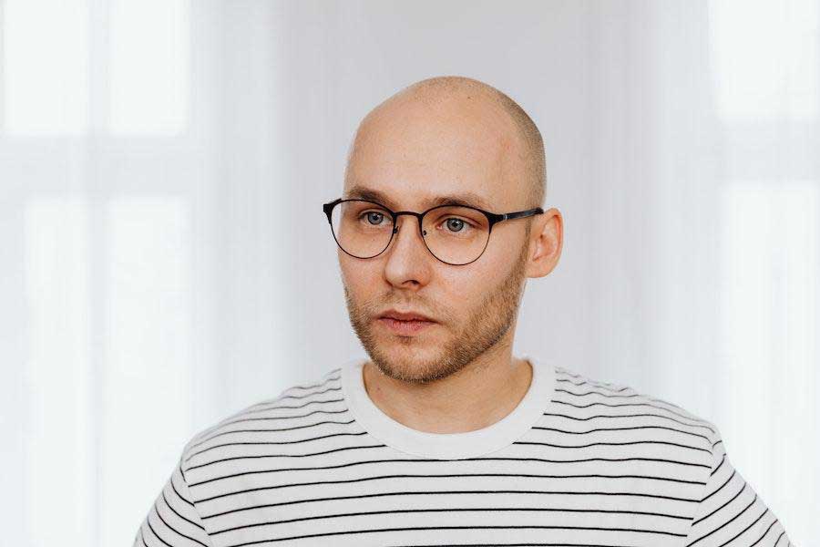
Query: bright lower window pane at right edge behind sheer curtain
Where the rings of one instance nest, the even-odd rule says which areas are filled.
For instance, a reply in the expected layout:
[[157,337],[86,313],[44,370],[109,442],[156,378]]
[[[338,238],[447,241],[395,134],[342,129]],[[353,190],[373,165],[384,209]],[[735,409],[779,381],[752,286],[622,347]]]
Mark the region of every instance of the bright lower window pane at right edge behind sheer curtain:
[[[820,441],[781,423],[820,426],[813,398],[820,359],[820,189],[815,181],[730,183],[721,212],[723,359],[715,375],[736,387],[720,399],[723,428],[733,431],[730,453],[762,491],[783,482],[816,484],[811,455]],[[761,436],[778,441],[761,443]],[[778,461],[782,465],[772,465]],[[800,496],[789,512],[808,522],[820,493],[806,489]]]

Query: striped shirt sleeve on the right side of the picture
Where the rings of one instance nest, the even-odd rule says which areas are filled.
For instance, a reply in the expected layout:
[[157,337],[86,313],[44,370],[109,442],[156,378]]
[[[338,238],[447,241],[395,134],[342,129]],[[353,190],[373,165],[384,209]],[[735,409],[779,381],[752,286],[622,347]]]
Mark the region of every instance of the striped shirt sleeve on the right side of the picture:
[[712,470],[682,543],[686,547],[789,547],[791,541],[752,486],[733,468],[721,432],[712,438]]

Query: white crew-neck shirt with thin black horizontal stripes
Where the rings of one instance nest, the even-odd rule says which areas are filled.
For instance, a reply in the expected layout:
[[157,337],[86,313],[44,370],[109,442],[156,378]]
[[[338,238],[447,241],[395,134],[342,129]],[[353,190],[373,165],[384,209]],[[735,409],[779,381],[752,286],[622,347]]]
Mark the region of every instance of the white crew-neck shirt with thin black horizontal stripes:
[[364,358],[244,408],[189,440],[134,545],[790,545],[712,422],[524,358],[518,406],[465,433],[389,418]]

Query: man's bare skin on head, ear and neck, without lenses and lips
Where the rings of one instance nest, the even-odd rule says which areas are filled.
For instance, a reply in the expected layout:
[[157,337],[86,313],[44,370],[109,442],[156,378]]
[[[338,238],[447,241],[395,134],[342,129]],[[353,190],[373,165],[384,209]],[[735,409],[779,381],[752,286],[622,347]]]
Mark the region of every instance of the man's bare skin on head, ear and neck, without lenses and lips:
[[[508,99],[507,99],[508,100]],[[422,212],[438,195],[471,191],[491,212],[541,205],[526,134],[497,91],[466,77],[418,82],[374,108],[348,157],[344,197],[381,191],[394,211]],[[512,356],[528,277],[558,263],[557,209],[497,223],[474,263],[450,265],[425,247],[418,223],[398,218],[390,246],[373,258],[338,250],[351,324],[370,361],[364,385],[374,405],[408,428],[460,433],[487,428],[518,406],[532,368]],[[396,308],[436,320],[415,335],[377,321]]]

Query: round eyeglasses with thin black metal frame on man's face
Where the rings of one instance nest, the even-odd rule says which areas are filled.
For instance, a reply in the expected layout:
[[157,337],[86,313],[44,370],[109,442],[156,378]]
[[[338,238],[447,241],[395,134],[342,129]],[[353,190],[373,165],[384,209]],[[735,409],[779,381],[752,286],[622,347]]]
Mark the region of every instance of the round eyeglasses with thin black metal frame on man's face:
[[333,239],[344,253],[354,258],[373,258],[393,241],[399,215],[418,219],[418,228],[427,250],[443,263],[463,266],[473,263],[487,249],[490,232],[497,222],[519,219],[544,212],[540,207],[499,214],[467,205],[438,205],[425,212],[393,212],[369,200],[338,199],[323,203]]

